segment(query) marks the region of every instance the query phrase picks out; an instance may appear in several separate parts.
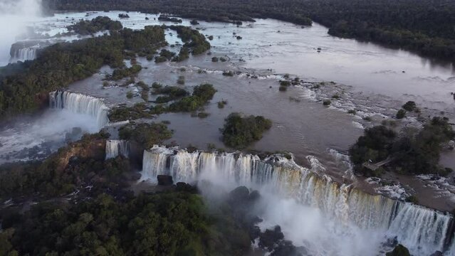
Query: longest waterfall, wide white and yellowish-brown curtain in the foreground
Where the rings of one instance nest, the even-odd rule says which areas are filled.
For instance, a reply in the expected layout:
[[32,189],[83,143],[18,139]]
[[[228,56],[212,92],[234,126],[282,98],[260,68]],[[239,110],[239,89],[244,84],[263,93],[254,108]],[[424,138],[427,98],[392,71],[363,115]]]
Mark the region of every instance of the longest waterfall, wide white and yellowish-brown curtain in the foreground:
[[172,175],[174,181],[215,179],[221,183],[266,187],[268,191],[318,208],[342,225],[355,224],[364,230],[385,230],[417,252],[444,251],[451,240],[451,216],[436,210],[370,195],[352,185],[339,184],[328,176],[296,164],[292,159],[240,153],[187,152],[154,146],[144,151],[142,176],[155,179]]

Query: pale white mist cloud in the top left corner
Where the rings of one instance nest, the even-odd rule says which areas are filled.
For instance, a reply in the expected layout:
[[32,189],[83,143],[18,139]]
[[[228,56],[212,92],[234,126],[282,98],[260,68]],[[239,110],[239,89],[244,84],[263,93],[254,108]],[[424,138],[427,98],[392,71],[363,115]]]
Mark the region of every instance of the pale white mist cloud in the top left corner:
[[0,65],[9,61],[16,37],[41,16],[41,0],[0,0]]

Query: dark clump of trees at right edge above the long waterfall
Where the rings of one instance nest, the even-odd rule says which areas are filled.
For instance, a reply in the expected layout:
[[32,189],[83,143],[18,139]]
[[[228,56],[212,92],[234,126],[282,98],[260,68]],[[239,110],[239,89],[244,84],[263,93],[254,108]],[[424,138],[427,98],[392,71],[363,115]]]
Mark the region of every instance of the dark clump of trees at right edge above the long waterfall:
[[365,129],[365,134],[350,148],[350,159],[359,174],[379,175],[362,166],[390,159],[387,169],[400,174],[441,174],[450,170],[439,166],[444,144],[454,139],[449,120],[433,117],[422,129],[403,129],[397,134],[385,126]]

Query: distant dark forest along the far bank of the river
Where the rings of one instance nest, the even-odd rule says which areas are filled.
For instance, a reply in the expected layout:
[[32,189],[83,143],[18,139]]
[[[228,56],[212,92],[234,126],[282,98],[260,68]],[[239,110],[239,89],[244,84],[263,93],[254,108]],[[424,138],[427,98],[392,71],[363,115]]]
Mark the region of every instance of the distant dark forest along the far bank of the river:
[[46,0],[51,9],[169,13],[206,21],[277,18],[300,25],[311,19],[333,36],[401,47],[429,57],[455,58],[455,2],[445,0]]

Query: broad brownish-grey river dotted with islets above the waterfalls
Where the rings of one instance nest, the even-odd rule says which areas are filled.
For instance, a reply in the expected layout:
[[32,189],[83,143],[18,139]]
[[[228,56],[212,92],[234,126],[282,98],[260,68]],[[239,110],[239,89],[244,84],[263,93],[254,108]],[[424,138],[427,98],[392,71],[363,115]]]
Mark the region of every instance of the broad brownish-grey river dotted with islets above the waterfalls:
[[[66,32],[70,23],[100,15],[120,20],[125,27],[134,29],[171,24],[157,21],[157,15],[130,12],[130,18],[119,19],[119,13],[61,13],[37,18],[33,24],[36,31],[55,40],[58,33]],[[150,19],[145,20],[146,16]],[[137,80],[149,85],[152,82],[176,85],[178,76],[184,75],[186,83],[182,87],[187,90],[191,91],[192,87],[202,82],[209,82],[218,90],[205,109],[210,113],[206,119],[182,113],[163,114],[158,118],[171,122],[169,127],[175,131],[172,140],[177,144],[192,144],[201,148],[215,144],[223,147],[219,141],[219,128],[229,113],[261,114],[273,120],[273,127],[251,149],[291,151],[303,166],[310,165],[308,156],[312,156],[312,159],[318,159],[320,168],[327,174],[338,181],[345,181],[352,175],[343,153],[362,134],[364,127],[380,124],[383,119],[392,117],[407,100],[416,101],[424,114],[444,112],[447,117],[454,117],[455,101],[450,92],[455,91],[455,70],[451,64],[373,43],[335,38],[328,35],[327,28],[317,23],[302,27],[273,19],[258,19],[255,23],[244,23],[242,26],[199,22],[195,27],[207,36],[214,36],[214,40],[210,41],[211,55],[193,56],[182,63],[161,64],[138,58],[147,69],[142,70]],[[184,19],[182,25],[189,26],[189,20]],[[166,31],[166,34],[169,43],[181,43],[174,31]],[[238,40],[236,36],[242,39]],[[59,39],[68,41],[75,38]],[[169,49],[177,52],[179,48]],[[229,61],[212,63],[213,56],[226,56]],[[180,71],[180,68],[185,68],[185,71]],[[239,71],[241,75],[225,77],[221,75],[223,70]],[[103,88],[104,73],[109,72],[109,68],[103,68],[92,78],[75,82],[69,90],[103,98],[108,106],[119,103],[132,105],[142,101],[139,96],[126,99],[126,92],[137,90],[135,87]],[[310,89],[313,84],[306,83],[290,87],[287,92],[278,92],[278,81],[286,73],[307,82],[326,82],[318,89]],[[246,74],[257,75],[258,79],[249,78]],[[331,107],[323,107],[321,101],[333,95],[340,96],[340,100],[333,100]],[[216,105],[220,100],[228,101],[224,109]],[[357,110],[357,114],[347,114],[347,110],[352,109]],[[371,117],[372,122],[362,117]],[[417,125],[414,117],[400,123]],[[11,136],[14,131],[17,136]],[[20,139],[23,134],[20,129],[9,127],[8,131],[2,130],[2,139],[7,137],[6,132],[16,144],[28,143],[26,139]],[[443,155],[442,162],[453,167],[454,159],[454,154],[449,152]],[[401,180],[402,186],[385,187],[370,186],[357,178],[350,182],[371,192],[380,191],[395,197],[407,196],[402,188],[411,184],[409,188],[422,195],[422,204],[441,210],[451,210],[455,206],[451,193],[454,188],[449,180],[436,185],[422,177]],[[431,184],[422,186],[424,181],[431,181]],[[435,189],[438,191],[434,192]],[[435,193],[440,200],[434,201]]]

